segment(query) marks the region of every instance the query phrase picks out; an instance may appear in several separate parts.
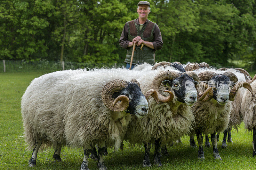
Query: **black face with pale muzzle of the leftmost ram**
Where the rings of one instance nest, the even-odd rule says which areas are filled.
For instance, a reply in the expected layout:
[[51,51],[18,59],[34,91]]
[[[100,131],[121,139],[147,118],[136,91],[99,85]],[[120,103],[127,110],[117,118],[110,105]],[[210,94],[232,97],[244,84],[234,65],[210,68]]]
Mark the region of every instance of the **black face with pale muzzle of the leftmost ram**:
[[139,118],[148,114],[148,102],[137,84],[129,83],[125,89],[113,97],[116,98],[119,95],[125,95],[130,100],[129,107],[126,109],[127,113],[136,115]]

